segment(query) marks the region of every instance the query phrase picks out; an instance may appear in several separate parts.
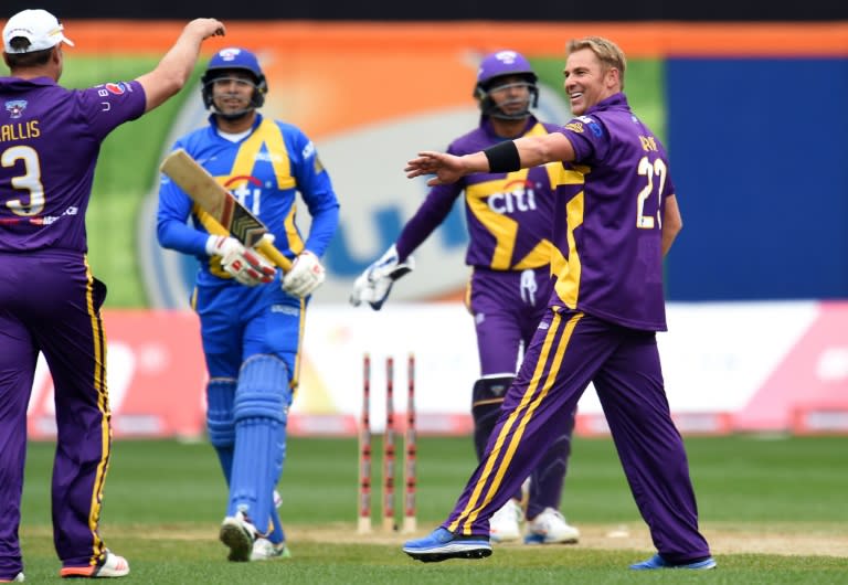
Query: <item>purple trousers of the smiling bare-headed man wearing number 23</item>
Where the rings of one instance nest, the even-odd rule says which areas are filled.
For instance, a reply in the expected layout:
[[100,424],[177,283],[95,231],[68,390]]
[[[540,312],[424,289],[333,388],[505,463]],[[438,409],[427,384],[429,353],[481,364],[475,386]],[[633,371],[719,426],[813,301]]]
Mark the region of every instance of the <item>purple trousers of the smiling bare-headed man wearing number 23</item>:
[[528,348],[483,461],[442,524],[488,535],[488,521],[538,464],[593,382],[636,506],[671,563],[710,554],[689,464],[666,398],[656,336],[559,307]]

